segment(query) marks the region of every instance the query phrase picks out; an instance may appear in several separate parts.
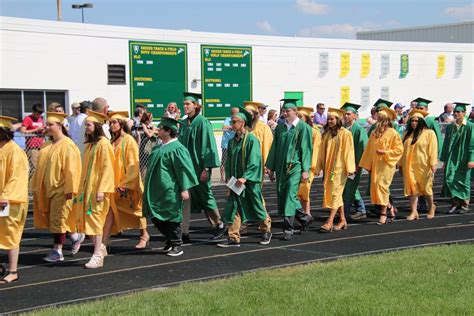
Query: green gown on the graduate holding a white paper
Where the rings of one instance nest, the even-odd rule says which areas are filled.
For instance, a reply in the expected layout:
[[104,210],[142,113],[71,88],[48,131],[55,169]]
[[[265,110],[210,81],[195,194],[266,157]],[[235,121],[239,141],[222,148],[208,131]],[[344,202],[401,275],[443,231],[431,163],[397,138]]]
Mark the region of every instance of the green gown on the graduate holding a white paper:
[[230,191],[224,210],[224,221],[233,223],[237,210],[240,210],[242,222],[264,221],[267,212],[263,206],[260,142],[253,134],[246,132],[240,140],[235,137],[230,140],[228,155],[225,164],[226,178],[244,178],[247,181],[240,196]]

